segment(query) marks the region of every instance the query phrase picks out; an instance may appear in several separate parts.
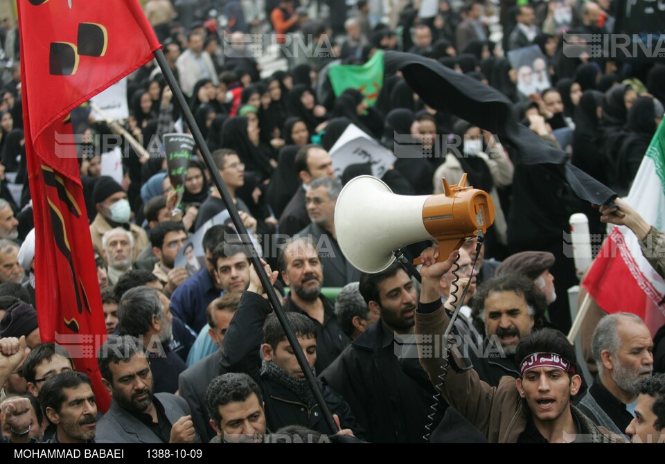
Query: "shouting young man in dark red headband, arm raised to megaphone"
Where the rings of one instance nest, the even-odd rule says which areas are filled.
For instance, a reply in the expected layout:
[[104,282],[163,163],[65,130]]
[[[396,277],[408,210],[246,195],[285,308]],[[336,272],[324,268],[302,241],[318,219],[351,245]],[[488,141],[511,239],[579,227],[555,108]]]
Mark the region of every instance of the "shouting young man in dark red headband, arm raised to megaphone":
[[[441,346],[450,318],[438,295],[441,276],[450,271],[457,251],[436,262],[438,249],[423,251],[423,286],[416,312],[420,364],[443,399],[471,422],[490,443],[612,443],[623,440],[598,427],[570,404],[582,379],[575,372],[574,348],[561,332],[544,329],[520,341],[515,352],[520,378],[503,377],[496,387],[482,382],[463,364],[463,346],[448,355]],[[429,337],[431,335],[431,338]],[[429,342],[431,340],[431,342]],[[425,343],[425,341],[429,343]],[[438,341],[438,343],[437,343]]]

